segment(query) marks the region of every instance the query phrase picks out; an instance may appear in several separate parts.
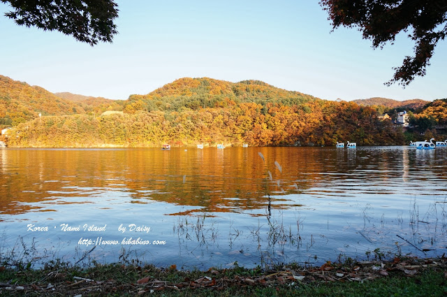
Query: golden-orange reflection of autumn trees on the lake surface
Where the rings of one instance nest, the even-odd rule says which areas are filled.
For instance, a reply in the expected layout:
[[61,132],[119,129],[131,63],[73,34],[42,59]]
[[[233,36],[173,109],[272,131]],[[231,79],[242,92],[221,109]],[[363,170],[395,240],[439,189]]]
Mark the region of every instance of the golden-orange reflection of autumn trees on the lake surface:
[[[57,204],[101,200],[118,205],[161,201],[192,206],[182,213],[244,212],[269,205],[284,209],[298,206],[293,201],[296,196],[288,194],[329,193],[337,184],[358,186],[359,180],[365,187],[368,182],[383,184],[403,175],[408,178],[413,168],[441,176],[442,166],[430,166],[439,165],[442,156],[435,153],[441,152],[422,152],[420,157],[416,150],[403,151],[333,147],[8,149],[1,154],[0,212],[57,210]],[[43,205],[42,201],[54,203]]]

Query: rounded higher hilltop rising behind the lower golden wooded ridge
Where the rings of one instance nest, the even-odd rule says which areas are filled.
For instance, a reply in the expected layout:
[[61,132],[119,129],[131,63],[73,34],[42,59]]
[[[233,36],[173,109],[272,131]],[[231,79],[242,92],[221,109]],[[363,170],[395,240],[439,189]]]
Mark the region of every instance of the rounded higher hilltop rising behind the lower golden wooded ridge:
[[272,87],[259,80],[226,82],[211,78],[181,78],[147,95],[131,95],[125,113],[137,110],[182,111],[226,108],[240,103],[301,105],[316,97]]

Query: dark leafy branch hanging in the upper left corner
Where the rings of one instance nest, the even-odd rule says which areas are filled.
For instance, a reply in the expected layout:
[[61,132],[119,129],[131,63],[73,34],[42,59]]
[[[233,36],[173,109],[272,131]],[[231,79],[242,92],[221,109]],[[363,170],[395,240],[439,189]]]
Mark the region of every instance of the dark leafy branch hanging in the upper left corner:
[[13,8],[5,15],[16,24],[57,30],[92,46],[98,41],[111,43],[118,33],[113,22],[118,16],[118,6],[112,0],[0,1]]

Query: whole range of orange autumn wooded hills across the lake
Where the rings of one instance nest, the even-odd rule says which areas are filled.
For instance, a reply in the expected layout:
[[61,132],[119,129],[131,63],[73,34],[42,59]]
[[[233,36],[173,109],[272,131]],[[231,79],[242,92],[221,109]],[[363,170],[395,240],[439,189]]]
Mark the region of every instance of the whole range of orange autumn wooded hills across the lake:
[[[13,126],[8,131],[10,147],[335,145],[346,140],[400,145],[418,137],[444,140],[445,130],[435,127],[447,124],[446,99],[412,108],[364,106],[326,101],[258,80],[181,78],[147,95],[109,101],[56,96],[0,76],[0,104],[0,125]],[[122,113],[102,114],[105,110]],[[415,129],[403,131],[378,117],[383,112],[395,117],[400,110],[409,111]]]

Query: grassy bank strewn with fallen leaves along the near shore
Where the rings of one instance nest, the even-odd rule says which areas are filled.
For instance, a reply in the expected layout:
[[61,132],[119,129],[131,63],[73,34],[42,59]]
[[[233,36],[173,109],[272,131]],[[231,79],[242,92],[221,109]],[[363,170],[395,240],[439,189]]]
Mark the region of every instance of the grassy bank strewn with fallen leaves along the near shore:
[[295,264],[207,271],[48,263],[0,267],[1,296],[446,296],[447,259]]

